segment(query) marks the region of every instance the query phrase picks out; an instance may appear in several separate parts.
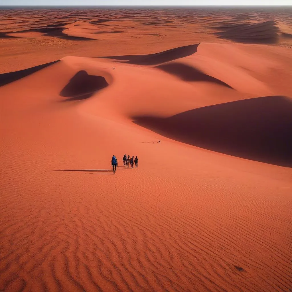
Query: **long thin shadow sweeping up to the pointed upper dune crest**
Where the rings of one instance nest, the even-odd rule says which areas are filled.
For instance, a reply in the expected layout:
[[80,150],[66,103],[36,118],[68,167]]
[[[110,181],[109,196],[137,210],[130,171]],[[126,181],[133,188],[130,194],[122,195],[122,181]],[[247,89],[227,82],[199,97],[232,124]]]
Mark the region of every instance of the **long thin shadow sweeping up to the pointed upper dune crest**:
[[199,44],[182,46],[173,48],[167,51],[149,54],[149,55],[123,55],[111,57],[98,57],[108,58],[120,61],[126,61],[129,64],[135,65],[158,65],[164,62],[170,62],[179,58],[184,58],[197,52]]

